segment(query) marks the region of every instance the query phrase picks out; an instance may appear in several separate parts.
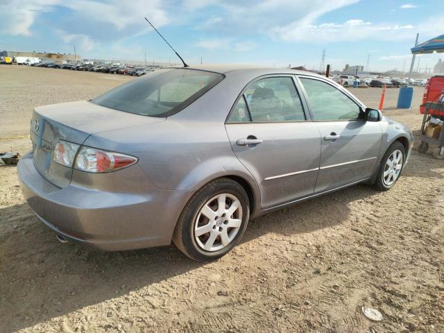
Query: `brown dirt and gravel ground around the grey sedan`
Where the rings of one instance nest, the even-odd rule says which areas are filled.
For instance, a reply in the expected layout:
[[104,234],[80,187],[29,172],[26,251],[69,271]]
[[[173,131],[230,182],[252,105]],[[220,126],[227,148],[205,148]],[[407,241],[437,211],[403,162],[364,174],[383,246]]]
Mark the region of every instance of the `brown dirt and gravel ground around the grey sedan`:
[[[25,153],[33,107],[89,99],[126,76],[0,66],[0,151]],[[417,135],[412,110],[388,117]],[[352,89],[377,107],[381,89]],[[444,332],[444,161],[413,151],[386,192],[357,185],[250,221],[199,264],[174,246],[60,244],[0,167],[0,332]],[[372,322],[361,307],[381,311]]]

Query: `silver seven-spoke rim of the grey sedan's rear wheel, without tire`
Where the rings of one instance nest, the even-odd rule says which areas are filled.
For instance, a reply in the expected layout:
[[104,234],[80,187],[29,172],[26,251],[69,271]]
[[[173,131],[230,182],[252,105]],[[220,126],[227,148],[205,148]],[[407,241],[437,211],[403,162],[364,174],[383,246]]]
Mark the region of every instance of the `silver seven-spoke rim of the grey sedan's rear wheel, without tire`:
[[200,208],[194,222],[194,239],[203,250],[221,250],[236,237],[241,224],[240,200],[232,194],[218,194]]

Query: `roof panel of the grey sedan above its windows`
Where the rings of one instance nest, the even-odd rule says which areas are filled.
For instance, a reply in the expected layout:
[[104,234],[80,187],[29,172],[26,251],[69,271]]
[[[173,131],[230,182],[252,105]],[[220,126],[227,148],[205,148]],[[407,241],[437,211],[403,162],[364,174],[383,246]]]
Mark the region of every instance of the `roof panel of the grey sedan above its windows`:
[[[184,68],[184,67],[173,67],[173,68]],[[258,75],[264,75],[264,72],[268,72],[269,74],[300,74],[300,75],[318,76],[325,78],[325,76],[312,73],[311,71],[299,71],[290,68],[261,67],[261,66],[249,66],[249,65],[237,65],[237,64],[191,65],[187,67],[187,69],[213,71],[215,73],[220,73],[220,74],[229,74],[234,71],[236,72],[245,71],[252,74],[256,71]]]

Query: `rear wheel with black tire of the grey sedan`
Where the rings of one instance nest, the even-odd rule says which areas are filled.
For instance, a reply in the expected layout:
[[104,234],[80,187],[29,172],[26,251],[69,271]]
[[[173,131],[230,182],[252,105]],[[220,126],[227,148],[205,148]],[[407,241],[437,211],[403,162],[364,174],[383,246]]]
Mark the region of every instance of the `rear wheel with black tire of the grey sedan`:
[[173,243],[198,262],[217,259],[239,243],[249,217],[244,188],[228,178],[213,180],[185,206],[174,230]]

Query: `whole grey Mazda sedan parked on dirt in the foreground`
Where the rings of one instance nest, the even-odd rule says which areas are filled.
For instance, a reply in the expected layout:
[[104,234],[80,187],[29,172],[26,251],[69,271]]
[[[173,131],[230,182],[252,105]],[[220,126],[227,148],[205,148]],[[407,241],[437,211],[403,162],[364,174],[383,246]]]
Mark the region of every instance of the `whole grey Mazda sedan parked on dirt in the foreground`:
[[409,128],[328,78],[216,65],[35,108],[31,139],[24,197],[60,241],[173,241],[198,261],[228,253],[272,210],[360,182],[390,189],[413,144]]

